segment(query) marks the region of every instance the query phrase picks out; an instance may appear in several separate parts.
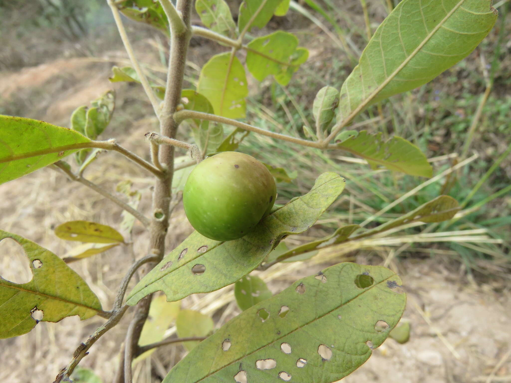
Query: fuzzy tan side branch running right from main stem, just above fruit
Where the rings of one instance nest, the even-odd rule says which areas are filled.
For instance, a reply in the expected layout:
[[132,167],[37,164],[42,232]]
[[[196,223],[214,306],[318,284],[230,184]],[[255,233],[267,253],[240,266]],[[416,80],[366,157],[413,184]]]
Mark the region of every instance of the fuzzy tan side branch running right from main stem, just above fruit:
[[235,126],[235,127],[238,127],[238,128],[244,129],[244,130],[262,134],[264,136],[268,136],[268,137],[275,138],[275,139],[282,139],[284,141],[297,143],[298,145],[303,145],[303,146],[307,146],[307,147],[311,147],[311,148],[338,149],[338,147],[336,145],[324,146],[320,142],[314,142],[314,141],[309,141],[306,139],[287,136],[285,134],[270,132],[269,130],[257,128],[255,126],[242,123],[241,121],[237,121],[235,119],[221,117],[221,116],[217,116],[215,114],[210,114],[210,113],[197,112],[195,110],[181,110],[179,112],[174,113],[174,118],[178,122],[182,122],[184,119],[187,119],[187,118],[207,119],[208,121],[215,121],[217,123]]

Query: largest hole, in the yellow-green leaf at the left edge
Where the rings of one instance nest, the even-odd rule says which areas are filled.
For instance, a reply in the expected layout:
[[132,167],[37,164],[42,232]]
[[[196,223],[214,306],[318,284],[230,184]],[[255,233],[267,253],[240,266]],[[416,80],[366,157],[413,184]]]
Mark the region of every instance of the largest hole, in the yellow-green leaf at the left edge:
[[0,275],[13,283],[27,283],[32,279],[32,271],[25,251],[12,238],[0,241]]

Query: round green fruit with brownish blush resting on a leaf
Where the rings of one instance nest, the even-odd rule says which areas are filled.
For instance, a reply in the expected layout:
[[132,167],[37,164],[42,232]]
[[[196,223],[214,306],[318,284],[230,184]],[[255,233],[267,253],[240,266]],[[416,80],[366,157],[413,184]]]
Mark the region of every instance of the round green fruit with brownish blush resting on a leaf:
[[184,212],[195,230],[216,241],[250,232],[275,202],[267,167],[238,152],[222,152],[200,162],[183,190]]

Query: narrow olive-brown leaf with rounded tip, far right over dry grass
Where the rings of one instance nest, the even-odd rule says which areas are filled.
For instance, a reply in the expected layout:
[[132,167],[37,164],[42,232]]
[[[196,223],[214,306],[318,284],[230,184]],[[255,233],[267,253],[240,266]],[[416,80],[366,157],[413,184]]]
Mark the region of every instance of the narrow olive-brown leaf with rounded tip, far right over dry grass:
[[459,209],[460,206],[458,201],[454,198],[449,196],[438,196],[399,218],[388,221],[374,229],[362,232],[357,235],[357,238],[378,234],[382,231],[413,222],[433,223],[447,221],[453,218]]

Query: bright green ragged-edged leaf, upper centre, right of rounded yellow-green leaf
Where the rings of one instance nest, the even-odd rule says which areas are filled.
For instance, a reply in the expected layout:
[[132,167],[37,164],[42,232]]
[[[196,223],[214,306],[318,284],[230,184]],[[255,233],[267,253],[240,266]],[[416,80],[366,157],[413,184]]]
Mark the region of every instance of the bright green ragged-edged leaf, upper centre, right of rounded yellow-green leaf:
[[296,36],[283,31],[253,39],[247,45],[247,68],[258,81],[274,75],[277,82],[285,86],[291,77],[279,75],[285,73],[290,66],[293,66],[291,75],[298,69],[298,66],[292,64],[297,47]]

